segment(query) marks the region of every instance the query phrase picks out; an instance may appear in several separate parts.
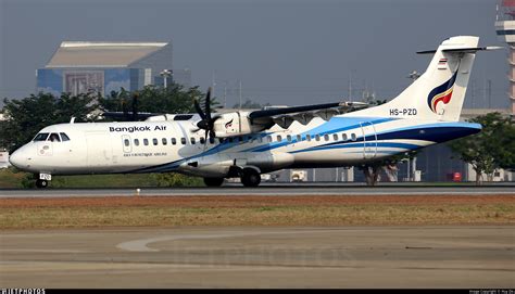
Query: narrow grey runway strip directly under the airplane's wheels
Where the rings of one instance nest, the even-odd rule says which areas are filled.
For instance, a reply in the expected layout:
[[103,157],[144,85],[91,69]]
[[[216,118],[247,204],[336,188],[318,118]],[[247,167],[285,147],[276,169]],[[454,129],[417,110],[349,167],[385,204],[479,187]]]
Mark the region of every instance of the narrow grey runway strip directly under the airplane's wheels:
[[209,196],[209,195],[489,195],[515,194],[515,186],[402,186],[365,187],[342,183],[284,183],[243,188],[130,188],[130,189],[3,189],[0,197],[77,197],[77,196]]

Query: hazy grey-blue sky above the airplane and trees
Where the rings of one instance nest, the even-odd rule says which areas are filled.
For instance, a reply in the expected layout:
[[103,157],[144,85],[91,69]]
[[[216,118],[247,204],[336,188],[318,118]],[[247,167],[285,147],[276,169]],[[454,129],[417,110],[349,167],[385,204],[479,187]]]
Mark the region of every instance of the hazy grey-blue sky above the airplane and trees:
[[[0,0],[0,98],[35,91],[35,71],[63,40],[172,41],[174,68],[189,67],[193,85],[224,86],[227,104],[243,98],[272,104],[353,100],[360,89],[389,99],[412,71],[424,72],[435,49],[455,35],[495,36],[495,0],[229,1]],[[465,106],[506,107],[506,50],[480,52]],[[230,91],[233,89],[233,91]]]

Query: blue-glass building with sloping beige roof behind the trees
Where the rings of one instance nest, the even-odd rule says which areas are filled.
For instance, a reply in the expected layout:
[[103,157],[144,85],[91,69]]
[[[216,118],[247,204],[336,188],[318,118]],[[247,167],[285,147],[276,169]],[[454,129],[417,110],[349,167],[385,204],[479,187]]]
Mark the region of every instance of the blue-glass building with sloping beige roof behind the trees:
[[134,91],[166,78],[171,82],[166,73],[172,72],[172,61],[171,42],[64,41],[45,68],[37,69],[37,91],[55,95]]

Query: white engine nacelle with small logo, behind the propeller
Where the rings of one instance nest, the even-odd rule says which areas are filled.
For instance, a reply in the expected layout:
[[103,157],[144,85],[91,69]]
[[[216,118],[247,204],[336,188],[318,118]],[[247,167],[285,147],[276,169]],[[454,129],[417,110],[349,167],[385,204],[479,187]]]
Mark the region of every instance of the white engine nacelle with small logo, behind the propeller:
[[224,113],[218,117],[214,123],[214,132],[217,138],[249,135],[269,127],[251,122],[249,112]]

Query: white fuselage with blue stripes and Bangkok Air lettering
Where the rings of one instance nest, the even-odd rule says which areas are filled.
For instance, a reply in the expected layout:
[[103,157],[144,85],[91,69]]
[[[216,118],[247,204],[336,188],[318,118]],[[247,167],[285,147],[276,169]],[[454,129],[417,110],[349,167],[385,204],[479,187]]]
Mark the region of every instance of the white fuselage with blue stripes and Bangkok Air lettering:
[[[315,117],[288,129],[204,141],[189,120],[60,124],[11,155],[16,167],[51,175],[177,171],[226,177],[231,166],[260,172],[291,167],[350,166],[479,131],[467,123],[392,117]],[[70,140],[50,141],[51,133]]]

